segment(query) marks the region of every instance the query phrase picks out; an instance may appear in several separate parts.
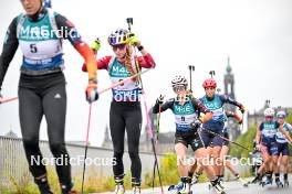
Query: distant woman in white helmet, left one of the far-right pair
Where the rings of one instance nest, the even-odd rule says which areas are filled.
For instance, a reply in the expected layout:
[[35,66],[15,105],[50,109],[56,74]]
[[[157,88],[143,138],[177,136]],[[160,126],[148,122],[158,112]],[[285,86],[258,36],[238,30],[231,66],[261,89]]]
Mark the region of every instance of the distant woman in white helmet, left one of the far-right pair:
[[291,141],[291,137],[283,129],[283,125],[274,121],[274,109],[267,108],[263,114],[264,121],[258,127],[255,136],[257,149],[262,153],[263,168],[267,176],[267,180],[262,185],[272,184],[272,174],[274,172],[277,185],[282,186],[279,179],[279,150],[275,134],[277,132],[281,132],[289,141]]

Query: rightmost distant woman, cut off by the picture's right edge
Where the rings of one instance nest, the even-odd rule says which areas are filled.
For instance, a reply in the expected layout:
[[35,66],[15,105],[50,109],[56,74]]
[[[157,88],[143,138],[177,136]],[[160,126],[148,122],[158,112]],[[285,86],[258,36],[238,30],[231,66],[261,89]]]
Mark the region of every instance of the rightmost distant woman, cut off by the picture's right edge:
[[[285,111],[281,110],[277,112],[278,122],[283,125],[284,130],[289,133],[292,132],[292,126],[285,122],[286,114]],[[279,161],[278,161],[278,173],[280,173],[280,168],[283,165],[283,173],[284,173],[284,186],[289,186],[288,181],[288,164],[289,164],[289,140],[283,136],[282,132],[278,131],[275,133],[275,140],[278,143],[278,152],[279,152]],[[291,142],[291,141],[290,141]]]

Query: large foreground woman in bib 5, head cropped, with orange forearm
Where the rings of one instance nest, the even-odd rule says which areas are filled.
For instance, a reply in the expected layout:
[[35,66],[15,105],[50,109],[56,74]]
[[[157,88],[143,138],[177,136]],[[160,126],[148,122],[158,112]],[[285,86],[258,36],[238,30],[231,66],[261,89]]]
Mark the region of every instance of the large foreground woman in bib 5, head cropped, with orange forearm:
[[[21,0],[25,13],[13,19],[7,31],[0,57],[0,88],[8,66],[18,46],[23,53],[19,79],[19,118],[23,147],[30,172],[42,194],[52,193],[39,148],[40,123],[45,116],[50,149],[53,157],[70,161],[65,148],[66,91],[63,74],[64,62],[62,40],[67,39],[85,58],[88,69],[86,89],[90,103],[97,100],[96,66],[92,50],[85,44],[75,26],[63,15],[43,7],[42,0]],[[43,32],[46,30],[46,33]],[[58,33],[61,32],[61,33]],[[67,35],[67,36],[66,36]],[[71,165],[64,162],[56,165],[63,194],[74,193],[71,180]]]

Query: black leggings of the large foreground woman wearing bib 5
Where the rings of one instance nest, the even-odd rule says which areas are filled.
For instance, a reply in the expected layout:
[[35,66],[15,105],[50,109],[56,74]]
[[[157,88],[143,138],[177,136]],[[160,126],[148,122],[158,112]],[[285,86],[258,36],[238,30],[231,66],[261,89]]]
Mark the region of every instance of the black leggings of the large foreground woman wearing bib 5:
[[[65,85],[59,84],[46,88],[33,89],[19,87],[19,117],[29,168],[34,177],[46,173],[45,166],[32,162],[42,159],[39,147],[40,123],[45,116],[50,149],[54,158],[69,161],[65,148],[65,116],[66,91]],[[35,161],[35,160],[34,160]],[[56,165],[60,183],[71,184],[70,163]]]

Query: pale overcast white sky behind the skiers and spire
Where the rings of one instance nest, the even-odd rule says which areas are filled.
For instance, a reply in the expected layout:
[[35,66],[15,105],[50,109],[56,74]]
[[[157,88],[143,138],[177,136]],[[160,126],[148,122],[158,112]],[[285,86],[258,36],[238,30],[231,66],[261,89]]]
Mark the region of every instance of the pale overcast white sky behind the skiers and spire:
[[[216,71],[215,78],[223,89],[227,57],[230,56],[236,97],[248,110],[260,109],[265,99],[270,99],[272,106],[292,107],[290,0],[52,0],[52,6],[76,25],[86,42],[101,37],[98,57],[113,54],[107,35],[115,29],[126,28],[126,18],[134,18],[133,31],[157,63],[154,71],[143,76],[149,105],[159,94],[167,98],[174,96],[170,80],[178,74],[188,77],[188,65],[196,66],[192,78],[196,97],[204,95],[201,84],[211,69]],[[1,2],[1,45],[8,25],[22,11],[18,0]],[[67,41],[64,53],[69,98],[66,139],[84,140],[88,115],[84,99],[87,75],[81,72],[82,57]],[[4,97],[17,95],[21,58],[19,50],[2,86]],[[98,83],[100,88],[109,86],[105,71],[98,72]],[[94,104],[92,144],[102,143],[111,95],[102,95]],[[161,116],[160,131],[175,130],[171,119],[170,111]],[[0,105],[0,134],[10,129],[20,137],[18,101]],[[46,139],[45,122],[41,139]]]

